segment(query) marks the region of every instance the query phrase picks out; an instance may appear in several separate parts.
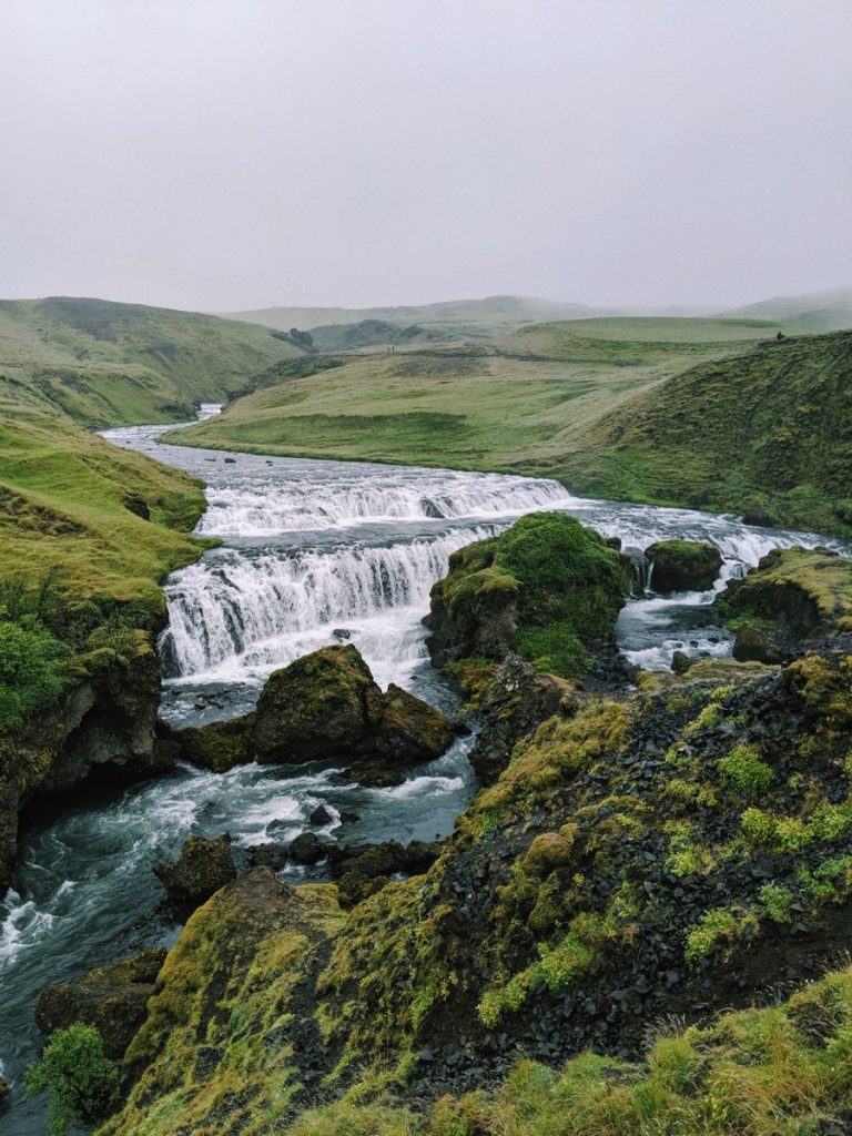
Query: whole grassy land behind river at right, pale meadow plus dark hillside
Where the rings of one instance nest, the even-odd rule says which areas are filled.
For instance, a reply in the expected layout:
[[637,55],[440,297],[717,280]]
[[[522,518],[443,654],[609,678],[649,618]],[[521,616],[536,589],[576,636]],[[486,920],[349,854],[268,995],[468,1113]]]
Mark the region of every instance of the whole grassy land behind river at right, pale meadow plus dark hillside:
[[[787,331],[787,325],[783,325]],[[852,533],[852,332],[608,317],[281,365],[190,445],[553,476],[587,495]],[[272,385],[270,385],[272,384]]]

